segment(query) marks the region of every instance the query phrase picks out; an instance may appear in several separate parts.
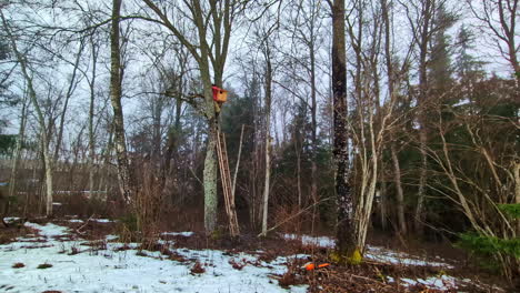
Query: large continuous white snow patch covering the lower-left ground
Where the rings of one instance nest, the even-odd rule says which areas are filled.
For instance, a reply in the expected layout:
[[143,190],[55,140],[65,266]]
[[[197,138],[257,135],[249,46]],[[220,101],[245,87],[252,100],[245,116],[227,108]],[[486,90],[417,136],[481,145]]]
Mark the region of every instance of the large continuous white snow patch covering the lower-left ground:
[[[27,223],[39,230],[39,236],[21,238],[17,242],[0,245],[0,292],[306,292],[306,286],[284,290],[270,274],[282,274],[288,261],[278,257],[260,266],[246,264],[232,267],[230,262],[256,261],[256,255],[226,255],[216,250],[174,250],[187,260],[201,263],[204,273],[191,274],[193,262],[161,260],[159,252],[138,250],[117,251],[121,243],[107,243],[96,251],[80,245],[84,240],[58,240],[68,229],[56,224]],[[189,234],[189,233],[184,233]],[[110,238],[110,239],[113,239]],[[130,245],[136,247],[137,244]],[[76,252],[76,253],[72,253]],[[77,253],[79,252],[79,253]],[[16,263],[24,266],[14,269]],[[48,269],[38,269],[50,264]]]

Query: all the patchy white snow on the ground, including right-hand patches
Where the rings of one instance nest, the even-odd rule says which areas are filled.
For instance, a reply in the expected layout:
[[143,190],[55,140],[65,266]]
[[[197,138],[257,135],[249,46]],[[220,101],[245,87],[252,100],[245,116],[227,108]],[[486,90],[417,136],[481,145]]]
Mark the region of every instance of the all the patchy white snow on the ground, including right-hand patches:
[[[80,223],[79,221],[73,221]],[[109,223],[110,220],[97,222]],[[219,250],[167,247],[181,260],[170,260],[160,252],[139,251],[138,243],[118,243],[108,235],[100,241],[79,239],[66,226],[48,223],[26,223],[37,231],[0,245],[0,292],[307,292],[306,285],[283,289],[276,280],[287,272],[287,263],[294,257],[279,256],[267,263],[256,254],[229,254]],[[162,235],[192,236],[192,232],[166,232]],[[300,240],[304,244],[331,247],[329,238],[283,234],[282,238]],[[162,241],[164,243],[164,241]],[[84,245],[90,244],[90,245]],[[449,270],[443,262],[421,260],[382,247],[370,246],[366,257],[400,265],[431,265]],[[193,272],[200,263],[203,272]],[[239,263],[240,267],[233,267]],[[17,267],[19,266],[19,267]],[[397,279],[387,276],[388,283],[402,286],[424,284],[430,289],[454,291],[458,280],[446,274],[426,279]]]

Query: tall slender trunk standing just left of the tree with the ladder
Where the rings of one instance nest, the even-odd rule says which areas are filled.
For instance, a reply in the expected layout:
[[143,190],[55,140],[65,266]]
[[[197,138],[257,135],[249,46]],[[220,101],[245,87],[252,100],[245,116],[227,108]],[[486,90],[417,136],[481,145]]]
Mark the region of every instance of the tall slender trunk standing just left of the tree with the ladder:
[[121,0],[112,1],[112,29],[110,33],[110,100],[113,109],[113,132],[118,161],[119,191],[124,203],[131,203],[131,179],[124,139],[124,120],[121,105],[121,51],[119,47],[119,21]]

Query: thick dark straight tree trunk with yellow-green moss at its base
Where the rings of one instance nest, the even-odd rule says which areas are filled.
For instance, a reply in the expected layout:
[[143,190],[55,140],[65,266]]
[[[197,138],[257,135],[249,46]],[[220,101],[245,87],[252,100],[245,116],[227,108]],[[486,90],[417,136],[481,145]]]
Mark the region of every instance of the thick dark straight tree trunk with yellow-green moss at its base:
[[341,256],[359,253],[353,236],[353,202],[349,184],[347,54],[344,0],[334,0],[332,9],[332,91],[334,127],[336,195],[338,198],[337,249]]

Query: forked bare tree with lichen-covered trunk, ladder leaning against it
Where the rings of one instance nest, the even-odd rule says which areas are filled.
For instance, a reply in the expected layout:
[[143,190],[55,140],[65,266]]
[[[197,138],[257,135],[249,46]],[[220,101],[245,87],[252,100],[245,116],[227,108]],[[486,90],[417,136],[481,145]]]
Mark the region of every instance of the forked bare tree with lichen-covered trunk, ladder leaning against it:
[[[248,1],[183,1],[181,4],[169,6],[142,0],[156,18],[146,18],[149,21],[166,27],[184,46],[199,65],[200,78],[203,85],[203,101],[196,104],[208,121],[209,135],[204,160],[204,228],[212,233],[217,226],[217,153],[216,143],[219,132],[219,107],[213,103],[211,85],[222,87],[223,69],[228,58],[229,42],[233,24],[242,13]],[[193,41],[188,32],[183,31],[172,21],[173,14],[167,11],[186,16],[186,20],[196,32]],[[186,12],[188,11],[188,12]],[[212,69],[212,72],[211,72]],[[211,79],[213,73],[213,79]]]

